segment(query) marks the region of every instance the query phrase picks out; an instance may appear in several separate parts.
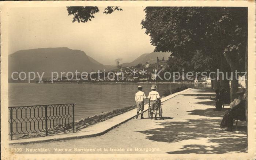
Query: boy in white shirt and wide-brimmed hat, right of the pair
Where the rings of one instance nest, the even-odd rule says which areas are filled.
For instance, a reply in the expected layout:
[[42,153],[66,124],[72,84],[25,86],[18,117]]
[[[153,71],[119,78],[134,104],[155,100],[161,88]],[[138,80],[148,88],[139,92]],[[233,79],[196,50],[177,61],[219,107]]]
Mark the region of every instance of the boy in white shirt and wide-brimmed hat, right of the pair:
[[155,111],[155,120],[157,120],[157,109],[159,107],[158,102],[160,101],[160,95],[157,91],[155,91],[157,89],[156,85],[152,85],[150,89],[152,89],[152,91],[149,92],[147,97],[148,99],[150,99],[150,107],[151,107],[150,118],[153,119],[153,112]]

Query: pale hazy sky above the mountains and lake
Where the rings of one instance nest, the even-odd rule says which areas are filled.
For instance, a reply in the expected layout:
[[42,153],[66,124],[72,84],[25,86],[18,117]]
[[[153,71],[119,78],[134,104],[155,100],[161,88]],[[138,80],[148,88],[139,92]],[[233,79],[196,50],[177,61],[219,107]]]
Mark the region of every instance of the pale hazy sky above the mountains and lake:
[[72,23],[65,7],[19,7],[9,12],[9,54],[21,49],[68,47],[79,49],[102,64],[115,59],[131,62],[154,46],[141,29],[144,7],[120,7],[103,14],[105,7],[87,23]]

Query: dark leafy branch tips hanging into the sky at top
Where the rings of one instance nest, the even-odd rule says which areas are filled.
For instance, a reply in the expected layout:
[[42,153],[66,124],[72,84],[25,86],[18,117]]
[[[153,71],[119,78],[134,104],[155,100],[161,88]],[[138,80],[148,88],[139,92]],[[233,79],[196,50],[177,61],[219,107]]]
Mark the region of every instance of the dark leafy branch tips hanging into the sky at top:
[[[103,13],[111,14],[114,11],[123,11],[123,9],[119,7],[109,6],[104,9]],[[72,22],[78,21],[78,23],[85,23],[87,21],[91,21],[94,18],[94,14],[99,12],[99,8],[96,6],[70,6],[67,7],[68,15],[73,15]]]

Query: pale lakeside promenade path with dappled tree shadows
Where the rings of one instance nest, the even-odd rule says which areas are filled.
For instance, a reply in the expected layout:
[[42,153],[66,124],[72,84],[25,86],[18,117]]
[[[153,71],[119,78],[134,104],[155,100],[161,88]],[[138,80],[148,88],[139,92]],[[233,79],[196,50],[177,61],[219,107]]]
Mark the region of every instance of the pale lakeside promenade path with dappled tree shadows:
[[[10,148],[22,148],[20,153],[23,154],[42,154],[27,152],[26,148],[49,148],[49,152],[44,154],[247,152],[245,123],[239,121],[237,131],[222,130],[219,124],[226,109],[213,111],[215,101],[209,97],[214,95],[209,88],[191,89],[163,102],[163,120],[148,119],[146,112],[146,119],[133,118],[101,136],[26,145],[13,144]],[[54,148],[63,151],[55,151]],[[149,148],[153,148],[154,152],[148,151]],[[65,149],[69,152],[65,152]]]

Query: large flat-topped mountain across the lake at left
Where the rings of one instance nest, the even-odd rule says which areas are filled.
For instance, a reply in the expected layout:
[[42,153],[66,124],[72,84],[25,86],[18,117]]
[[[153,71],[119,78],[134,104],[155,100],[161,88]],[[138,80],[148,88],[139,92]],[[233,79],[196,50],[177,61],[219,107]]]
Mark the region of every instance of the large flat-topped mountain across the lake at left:
[[38,48],[17,51],[8,57],[8,73],[42,72],[51,77],[51,72],[91,72],[104,69],[105,66],[80,50],[62,48]]

